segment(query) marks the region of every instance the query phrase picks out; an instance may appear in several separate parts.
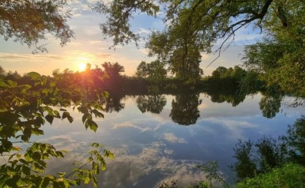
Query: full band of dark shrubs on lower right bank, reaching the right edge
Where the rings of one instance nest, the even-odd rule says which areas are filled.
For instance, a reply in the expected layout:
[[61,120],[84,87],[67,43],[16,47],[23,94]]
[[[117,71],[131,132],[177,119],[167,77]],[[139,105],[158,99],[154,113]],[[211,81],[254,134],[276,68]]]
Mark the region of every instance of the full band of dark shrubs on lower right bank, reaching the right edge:
[[256,174],[267,173],[274,167],[287,162],[305,165],[305,117],[288,125],[287,135],[280,138],[238,140],[234,148],[236,162],[230,166],[236,172],[236,182],[253,178]]

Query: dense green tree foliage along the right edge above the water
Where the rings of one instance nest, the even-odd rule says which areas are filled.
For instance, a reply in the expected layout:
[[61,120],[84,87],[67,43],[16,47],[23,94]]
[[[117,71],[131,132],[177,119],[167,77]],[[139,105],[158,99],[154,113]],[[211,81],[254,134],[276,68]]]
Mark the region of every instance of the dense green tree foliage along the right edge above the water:
[[245,65],[267,86],[305,95],[304,1],[275,1],[265,21],[265,38],[245,48]]

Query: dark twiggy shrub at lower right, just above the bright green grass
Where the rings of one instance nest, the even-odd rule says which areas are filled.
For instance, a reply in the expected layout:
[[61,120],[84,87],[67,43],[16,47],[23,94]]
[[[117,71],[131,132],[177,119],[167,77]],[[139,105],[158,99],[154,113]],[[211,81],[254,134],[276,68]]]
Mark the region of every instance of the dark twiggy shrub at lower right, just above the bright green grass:
[[251,140],[238,140],[234,152],[236,162],[230,168],[236,172],[237,182],[281,167],[289,160],[286,144],[272,138],[264,137],[255,143]]

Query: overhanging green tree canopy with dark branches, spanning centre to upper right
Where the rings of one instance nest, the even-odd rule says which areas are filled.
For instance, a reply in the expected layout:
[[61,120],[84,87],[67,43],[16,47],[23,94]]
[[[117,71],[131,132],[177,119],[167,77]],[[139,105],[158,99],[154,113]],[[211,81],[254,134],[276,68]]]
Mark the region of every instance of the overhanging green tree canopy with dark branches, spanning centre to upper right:
[[[101,29],[113,38],[114,46],[139,41],[139,33],[130,23],[135,14],[143,12],[162,19],[164,30],[154,30],[146,47],[150,55],[167,62],[171,71],[182,77],[200,73],[200,53],[211,53],[216,41],[220,46],[214,52],[220,55],[232,44],[238,30],[259,28],[265,39],[247,46],[245,64],[261,70],[268,85],[279,84],[286,91],[305,93],[304,1],[114,0],[100,1],[94,10],[107,15]],[[186,64],[195,71],[188,70]]]

